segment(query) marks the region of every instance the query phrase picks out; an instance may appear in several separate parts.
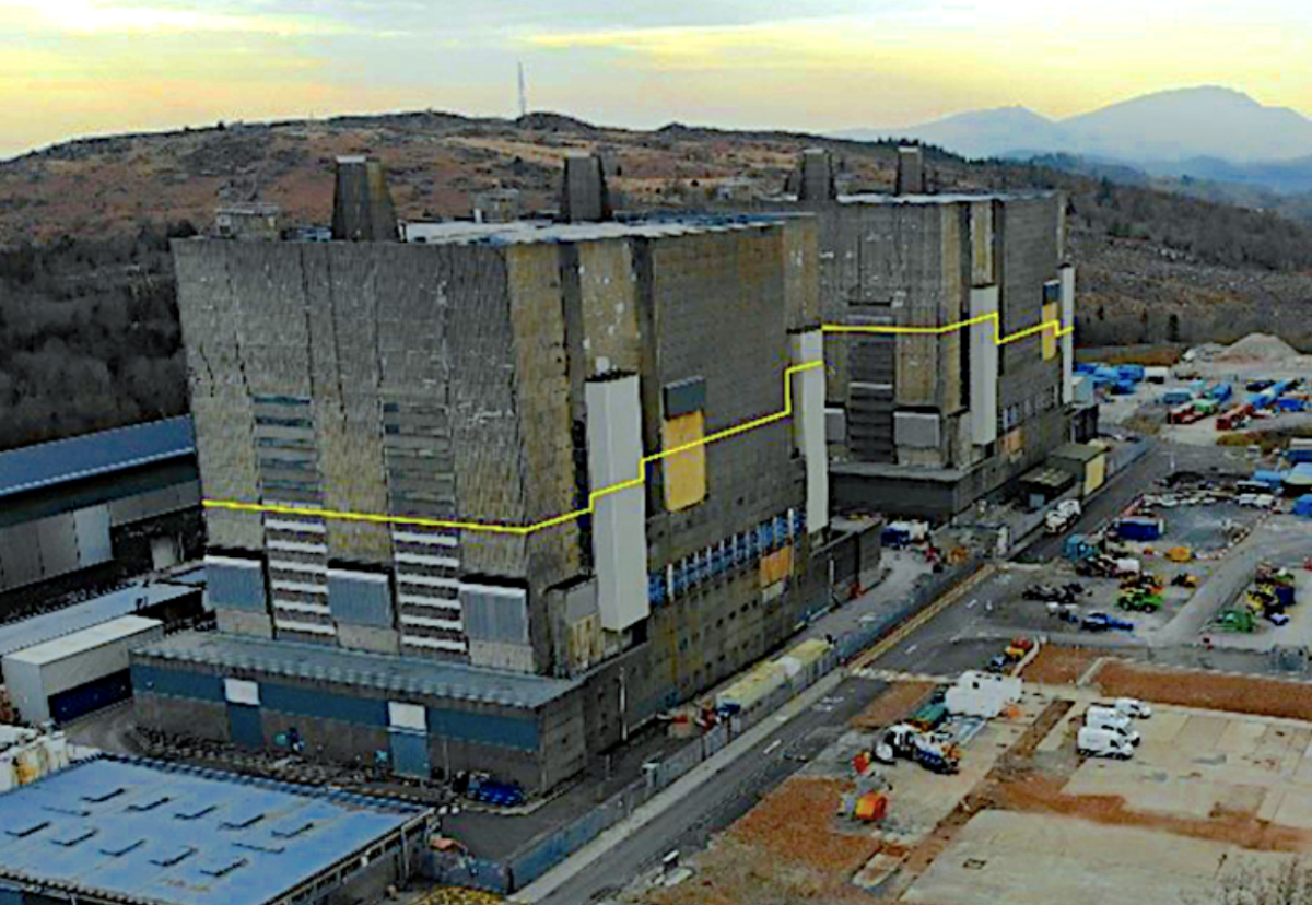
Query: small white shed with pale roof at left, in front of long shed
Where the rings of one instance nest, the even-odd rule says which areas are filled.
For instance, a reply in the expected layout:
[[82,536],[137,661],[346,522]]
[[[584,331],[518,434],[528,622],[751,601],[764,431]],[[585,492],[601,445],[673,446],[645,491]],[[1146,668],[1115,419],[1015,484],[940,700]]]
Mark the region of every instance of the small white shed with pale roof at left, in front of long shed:
[[164,623],[119,616],[7,653],[5,687],[30,725],[68,723],[133,694],[127,654],[164,637]]

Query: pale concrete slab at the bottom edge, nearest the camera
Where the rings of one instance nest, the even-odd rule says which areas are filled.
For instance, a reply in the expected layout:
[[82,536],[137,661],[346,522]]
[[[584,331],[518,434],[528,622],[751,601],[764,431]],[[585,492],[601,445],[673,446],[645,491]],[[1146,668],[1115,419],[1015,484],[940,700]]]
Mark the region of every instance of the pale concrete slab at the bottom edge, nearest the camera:
[[962,828],[901,901],[933,905],[1206,901],[1229,866],[1267,867],[1287,858],[1135,826],[984,811]]

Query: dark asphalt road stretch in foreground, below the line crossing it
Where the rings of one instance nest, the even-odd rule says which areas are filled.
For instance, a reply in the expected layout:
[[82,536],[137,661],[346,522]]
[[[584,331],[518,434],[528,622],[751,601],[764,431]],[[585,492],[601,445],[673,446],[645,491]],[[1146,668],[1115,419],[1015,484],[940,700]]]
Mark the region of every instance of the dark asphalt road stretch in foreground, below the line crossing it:
[[703,847],[711,834],[747,813],[761,796],[799,770],[804,759],[824,750],[848,720],[886,687],[874,679],[844,679],[820,703],[781,723],[694,795],[653,818],[539,902],[605,901],[655,867],[666,853],[687,854]]

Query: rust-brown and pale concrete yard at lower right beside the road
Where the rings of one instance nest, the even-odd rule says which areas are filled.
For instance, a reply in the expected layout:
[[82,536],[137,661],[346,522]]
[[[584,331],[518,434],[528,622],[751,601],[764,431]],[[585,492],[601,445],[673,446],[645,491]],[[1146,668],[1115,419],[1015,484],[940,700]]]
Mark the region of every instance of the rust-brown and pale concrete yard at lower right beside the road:
[[[705,853],[622,901],[1210,901],[1235,871],[1312,851],[1308,686],[1061,648],[1018,673],[992,719],[893,683]],[[1090,706],[1127,698],[1148,714],[1132,753],[1081,755]],[[908,725],[953,740],[949,771],[871,755]]]

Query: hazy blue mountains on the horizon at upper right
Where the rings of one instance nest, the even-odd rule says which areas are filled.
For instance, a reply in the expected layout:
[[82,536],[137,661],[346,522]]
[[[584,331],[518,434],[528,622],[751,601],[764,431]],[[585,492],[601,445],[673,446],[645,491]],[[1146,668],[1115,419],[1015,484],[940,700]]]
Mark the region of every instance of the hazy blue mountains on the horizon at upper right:
[[1065,119],[1008,106],[837,136],[907,138],[972,159],[1075,155],[1149,176],[1312,191],[1312,119],[1214,85],[1144,94]]

